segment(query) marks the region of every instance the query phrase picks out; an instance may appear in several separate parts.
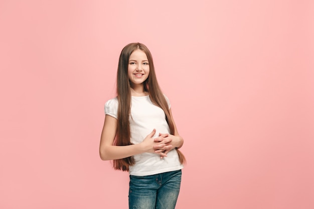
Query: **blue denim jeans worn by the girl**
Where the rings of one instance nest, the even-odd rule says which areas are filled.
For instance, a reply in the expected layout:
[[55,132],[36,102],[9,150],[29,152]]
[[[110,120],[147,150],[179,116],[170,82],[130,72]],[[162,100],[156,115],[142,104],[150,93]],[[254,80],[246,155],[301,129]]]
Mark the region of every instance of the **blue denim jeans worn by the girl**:
[[174,209],[181,175],[181,170],[146,176],[130,175],[129,209]]

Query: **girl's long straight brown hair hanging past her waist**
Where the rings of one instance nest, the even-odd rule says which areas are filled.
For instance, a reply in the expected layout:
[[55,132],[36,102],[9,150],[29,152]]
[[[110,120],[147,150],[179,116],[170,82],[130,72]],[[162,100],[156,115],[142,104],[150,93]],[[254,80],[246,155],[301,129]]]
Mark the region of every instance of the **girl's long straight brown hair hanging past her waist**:
[[[118,124],[116,130],[116,138],[114,140],[114,145],[125,146],[132,144],[130,142],[130,126],[129,126],[129,115],[131,106],[131,87],[128,78],[128,63],[129,57],[132,52],[136,49],[143,51],[148,59],[149,63],[149,75],[144,81],[144,91],[147,91],[151,102],[162,108],[166,114],[166,120],[170,128],[170,133],[175,134],[175,126],[173,120],[170,116],[169,107],[163,92],[161,91],[153,66],[152,56],[147,49],[147,47],[140,43],[131,43],[126,45],[120,54],[117,72],[117,98],[118,98]],[[186,159],[181,151],[176,149],[179,155],[181,163],[185,163]],[[132,156],[123,159],[113,160],[113,167],[115,169],[120,169],[127,171],[129,165],[133,165],[134,159]]]

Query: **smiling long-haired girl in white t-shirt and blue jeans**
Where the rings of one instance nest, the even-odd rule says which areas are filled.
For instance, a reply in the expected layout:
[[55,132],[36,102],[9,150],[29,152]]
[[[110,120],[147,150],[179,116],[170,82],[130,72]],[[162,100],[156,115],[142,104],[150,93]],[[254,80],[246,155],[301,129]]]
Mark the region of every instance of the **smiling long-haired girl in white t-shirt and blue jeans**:
[[175,208],[185,163],[182,145],[149,50],[128,44],[119,58],[117,97],[105,104],[99,152],[115,169],[129,172],[129,208]]

